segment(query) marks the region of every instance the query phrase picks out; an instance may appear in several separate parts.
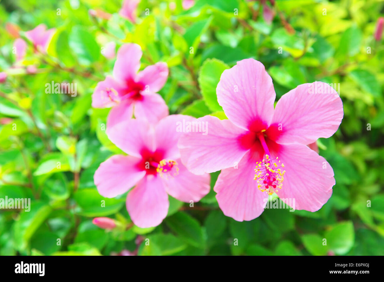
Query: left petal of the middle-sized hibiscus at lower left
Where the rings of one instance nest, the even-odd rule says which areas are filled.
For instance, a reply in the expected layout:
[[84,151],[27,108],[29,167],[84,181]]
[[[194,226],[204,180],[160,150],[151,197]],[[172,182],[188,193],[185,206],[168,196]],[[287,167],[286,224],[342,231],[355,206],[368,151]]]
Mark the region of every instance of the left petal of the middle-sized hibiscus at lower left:
[[138,168],[140,158],[114,155],[101,163],[93,179],[101,196],[113,198],[124,194],[144,177]]

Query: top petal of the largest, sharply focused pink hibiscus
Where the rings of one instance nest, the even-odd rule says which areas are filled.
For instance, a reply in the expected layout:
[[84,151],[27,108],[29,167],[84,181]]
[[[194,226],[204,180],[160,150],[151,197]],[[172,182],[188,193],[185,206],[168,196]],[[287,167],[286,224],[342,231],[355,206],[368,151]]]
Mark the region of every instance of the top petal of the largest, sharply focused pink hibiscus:
[[226,69],[217,84],[217,101],[234,124],[254,132],[268,128],[276,93],[264,65],[244,59]]

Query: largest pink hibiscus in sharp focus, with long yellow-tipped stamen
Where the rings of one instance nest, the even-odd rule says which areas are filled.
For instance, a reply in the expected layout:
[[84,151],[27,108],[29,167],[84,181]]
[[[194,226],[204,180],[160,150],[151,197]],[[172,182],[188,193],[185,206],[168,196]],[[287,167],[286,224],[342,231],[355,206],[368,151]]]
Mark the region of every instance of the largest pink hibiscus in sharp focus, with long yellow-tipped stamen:
[[[252,220],[263,212],[268,194],[295,209],[317,211],[332,195],[334,173],[308,144],[336,132],[343,103],[323,82],[276,93],[262,63],[237,62],[217,85],[217,100],[228,119],[207,115],[209,134],[185,133],[179,141],[182,163],[195,174],[221,170],[214,191],[226,216]],[[266,192],[266,193],[263,193]]]

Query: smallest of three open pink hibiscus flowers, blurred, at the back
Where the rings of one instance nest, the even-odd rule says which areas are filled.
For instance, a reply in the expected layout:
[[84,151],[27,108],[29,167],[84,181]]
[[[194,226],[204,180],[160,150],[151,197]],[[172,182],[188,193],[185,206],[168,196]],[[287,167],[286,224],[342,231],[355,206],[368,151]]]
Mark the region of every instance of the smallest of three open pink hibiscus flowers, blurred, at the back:
[[168,66],[160,62],[137,73],[141,56],[139,45],[122,45],[113,68],[113,77],[107,76],[93,92],[92,107],[113,107],[108,115],[107,127],[130,119],[132,114],[137,119],[146,119],[151,123],[168,115],[164,99],[156,94],[167,81]]

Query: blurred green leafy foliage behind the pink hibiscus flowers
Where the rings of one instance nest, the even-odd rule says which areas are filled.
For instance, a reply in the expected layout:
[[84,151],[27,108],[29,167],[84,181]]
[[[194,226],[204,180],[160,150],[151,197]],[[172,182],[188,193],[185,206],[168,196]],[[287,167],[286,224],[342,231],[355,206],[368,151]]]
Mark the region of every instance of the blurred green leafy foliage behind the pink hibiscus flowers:
[[[181,0],[142,0],[132,24],[118,15],[120,0],[0,1],[0,71],[8,75],[0,84],[0,198],[31,198],[32,205],[30,212],[0,211],[0,254],[384,255],[384,41],[374,38],[384,2],[264,4],[197,0],[184,10]],[[57,28],[48,55],[29,48],[22,67],[12,67],[15,36],[7,23],[21,31],[40,23]],[[194,208],[170,198],[169,215],[156,228],[134,226],[126,195],[103,198],[93,183],[99,164],[121,152],[103,130],[109,109],[91,108],[96,83],[113,69],[114,59],[101,54],[110,41],[141,45],[142,68],[169,65],[160,94],[171,114],[225,119],[215,88],[222,71],[245,58],[265,65],[277,99],[305,82],[339,83],[343,122],[333,137],[318,140],[336,178],[328,203],[315,213],[266,209],[237,222],[223,215],[212,190]],[[28,72],[30,65],[37,70]],[[46,94],[51,81],[76,83],[77,96]],[[105,231],[92,224],[97,216],[127,228]]]

